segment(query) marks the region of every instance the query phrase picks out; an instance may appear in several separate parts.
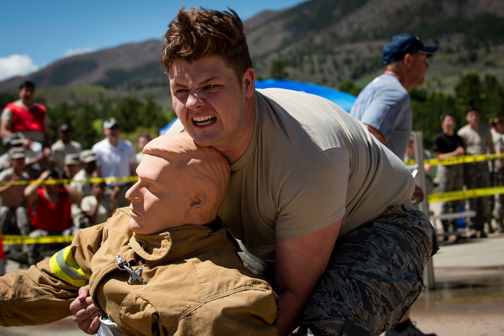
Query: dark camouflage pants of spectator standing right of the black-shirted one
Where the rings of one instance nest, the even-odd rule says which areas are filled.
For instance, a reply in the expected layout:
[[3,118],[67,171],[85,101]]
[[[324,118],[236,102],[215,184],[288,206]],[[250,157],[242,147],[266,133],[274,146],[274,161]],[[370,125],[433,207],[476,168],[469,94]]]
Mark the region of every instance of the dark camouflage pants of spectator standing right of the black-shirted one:
[[[488,163],[472,162],[464,166],[465,184],[467,189],[490,187],[490,172]],[[476,215],[469,220],[469,227],[477,231],[483,230],[485,222],[490,222],[490,200],[489,196],[470,198],[469,208],[476,211]]]

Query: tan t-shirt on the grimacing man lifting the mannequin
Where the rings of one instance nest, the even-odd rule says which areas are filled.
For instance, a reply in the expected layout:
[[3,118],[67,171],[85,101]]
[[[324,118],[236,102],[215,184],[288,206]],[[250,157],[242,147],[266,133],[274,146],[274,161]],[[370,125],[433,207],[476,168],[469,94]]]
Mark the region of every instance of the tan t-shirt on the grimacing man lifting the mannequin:
[[301,237],[343,218],[342,236],[391,205],[412,209],[413,189],[404,163],[339,106],[264,89],[219,215],[249,252],[273,261],[275,236]]

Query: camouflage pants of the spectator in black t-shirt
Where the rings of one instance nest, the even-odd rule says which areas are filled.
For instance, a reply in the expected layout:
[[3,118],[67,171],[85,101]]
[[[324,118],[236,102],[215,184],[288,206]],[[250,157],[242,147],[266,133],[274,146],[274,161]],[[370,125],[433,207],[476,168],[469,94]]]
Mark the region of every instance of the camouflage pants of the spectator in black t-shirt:
[[[439,193],[460,191],[464,185],[464,168],[461,164],[438,165],[436,179],[438,183],[437,191]],[[460,200],[443,202],[441,212],[458,212],[460,204]],[[443,223],[445,233],[449,233],[450,228],[453,232],[457,232],[456,219],[443,219],[441,222]]]

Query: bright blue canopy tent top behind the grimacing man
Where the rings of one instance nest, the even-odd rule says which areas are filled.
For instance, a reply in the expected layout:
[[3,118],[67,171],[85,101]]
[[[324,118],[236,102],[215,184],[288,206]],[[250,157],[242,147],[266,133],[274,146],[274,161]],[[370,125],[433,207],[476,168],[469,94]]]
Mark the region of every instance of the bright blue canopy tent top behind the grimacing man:
[[[350,93],[346,93],[343,91],[339,91],[336,89],[332,89],[327,86],[312,84],[312,83],[303,83],[303,82],[294,82],[285,79],[266,79],[263,81],[256,81],[256,89],[266,89],[266,88],[281,88],[281,89],[289,89],[294,91],[301,91],[306,93],[311,93],[314,95],[318,95],[324,97],[326,99],[331,100],[336,103],[338,106],[343,108],[345,111],[350,111],[355,102],[355,96]],[[177,118],[172,120],[168,125],[161,128],[159,130],[159,134],[165,134],[166,131],[177,121]]]

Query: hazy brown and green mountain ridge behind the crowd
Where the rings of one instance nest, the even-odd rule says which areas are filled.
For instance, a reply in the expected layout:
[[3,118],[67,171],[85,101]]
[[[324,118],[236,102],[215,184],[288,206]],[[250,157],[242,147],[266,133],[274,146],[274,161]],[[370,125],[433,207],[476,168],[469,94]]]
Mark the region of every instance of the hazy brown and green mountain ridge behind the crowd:
[[[244,23],[259,79],[269,78],[277,63],[291,80],[335,88],[368,80],[383,71],[382,46],[402,32],[441,46],[427,75],[429,90],[449,90],[453,77],[469,68],[504,77],[504,3],[498,0],[311,0]],[[75,55],[1,81],[0,92],[29,79],[40,88],[102,86],[121,91],[115,94],[140,94],[142,88],[144,96],[166,103],[160,52],[160,39],[150,39]]]

